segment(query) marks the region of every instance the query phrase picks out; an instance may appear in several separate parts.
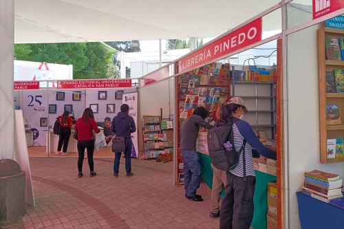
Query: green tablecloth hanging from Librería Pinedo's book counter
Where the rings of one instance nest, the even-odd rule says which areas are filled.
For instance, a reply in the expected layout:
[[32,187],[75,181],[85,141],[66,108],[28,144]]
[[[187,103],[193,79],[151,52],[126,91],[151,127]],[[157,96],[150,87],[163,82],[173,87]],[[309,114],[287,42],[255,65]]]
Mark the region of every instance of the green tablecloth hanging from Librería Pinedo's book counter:
[[[213,186],[213,169],[211,168],[211,158],[203,153],[200,155],[200,164],[202,168],[202,179],[206,185]],[[255,213],[252,220],[253,229],[266,229],[266,214],[268,210],[268,183],[276,182],[277,177],[268,173],[256,171],[256,186],[253,202],[255,204]],[[224,193],[222,193],[223,197]]]

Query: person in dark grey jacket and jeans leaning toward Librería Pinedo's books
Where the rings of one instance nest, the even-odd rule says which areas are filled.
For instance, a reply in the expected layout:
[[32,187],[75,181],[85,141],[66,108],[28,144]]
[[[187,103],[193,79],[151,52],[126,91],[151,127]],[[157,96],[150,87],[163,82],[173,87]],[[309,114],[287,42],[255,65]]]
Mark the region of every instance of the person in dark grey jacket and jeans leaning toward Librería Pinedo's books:
[[182,122],[180,129],[180,149],[184,159],[185,197],[192,201],[203,201],[196,195],[201,182],[201,165],[196,152],[196,140],[200,127],[211,129],[213,126],[204,121],[208,111],[204,107],[196,107],[193,115]]

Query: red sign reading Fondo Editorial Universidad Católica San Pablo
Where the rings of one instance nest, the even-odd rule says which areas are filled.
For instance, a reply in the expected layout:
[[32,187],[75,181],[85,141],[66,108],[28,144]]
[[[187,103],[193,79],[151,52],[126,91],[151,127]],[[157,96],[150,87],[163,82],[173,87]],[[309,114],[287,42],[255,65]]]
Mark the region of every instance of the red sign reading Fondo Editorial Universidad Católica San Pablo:
[[122,80],[58,80],[58,89],[131,87],[131,79]]

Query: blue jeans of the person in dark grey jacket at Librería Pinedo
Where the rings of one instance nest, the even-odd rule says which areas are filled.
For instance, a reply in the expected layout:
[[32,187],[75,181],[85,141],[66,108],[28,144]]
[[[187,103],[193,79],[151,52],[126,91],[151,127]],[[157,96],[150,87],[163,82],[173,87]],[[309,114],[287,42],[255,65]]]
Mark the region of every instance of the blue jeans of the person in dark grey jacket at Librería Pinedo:
[[201,183],[201,165],[200,158],[196,151],[182,149],[184,158],[184,182],[185,195],[195,197],[196,189],[200,188]]

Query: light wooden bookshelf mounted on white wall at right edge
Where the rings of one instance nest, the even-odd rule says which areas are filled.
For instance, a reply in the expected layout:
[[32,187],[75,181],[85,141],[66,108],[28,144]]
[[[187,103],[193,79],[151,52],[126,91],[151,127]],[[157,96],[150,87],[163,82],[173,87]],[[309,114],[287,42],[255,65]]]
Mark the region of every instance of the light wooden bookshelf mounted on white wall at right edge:
[[[318,54],[319,54],[319,123],[320,123],[320,161],[321,163],[344,162],[344,155],[335,153],[335,157],[327,155],[327,140],[344,138],[344,93],[331,91],[328,89],[328,80],[333,74],[334,84],[338,81],[333,73],[334,69],[344,69],[344,61],[332,60],[328,58],[326,51],[330,52],[330,45],[325,45],[326,39],[336,39],[344,37],[344,30],[334,28],[321,28],[317,32],[318,36]],[[328,49],[328,50],[327,50]],[[340,52],[340,51],[339,51]],[[343,59],[343,57],[342,57]],[[338,71],[338,70],[337,70]],[[340,120],[337,124],[329,124],[330,108],[328,105],[338,107]],[[329,109],[329,111],[327,111]],[[329,118],[327,118],[327,116]],[[336,144],[338,146],[338,144]],[[330,149],[330,146],[328,146]]]

